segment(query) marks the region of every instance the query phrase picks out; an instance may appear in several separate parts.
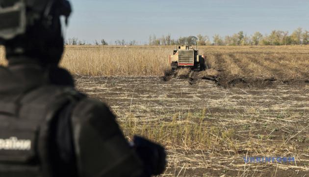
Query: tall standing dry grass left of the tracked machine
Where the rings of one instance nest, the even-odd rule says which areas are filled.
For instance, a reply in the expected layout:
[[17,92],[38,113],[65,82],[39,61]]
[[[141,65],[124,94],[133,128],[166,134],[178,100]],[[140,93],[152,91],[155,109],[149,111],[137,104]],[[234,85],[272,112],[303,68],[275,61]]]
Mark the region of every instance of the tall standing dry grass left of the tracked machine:
[[157,76],[169,69],[166,47],[66,47],[61,66],[73,74]]

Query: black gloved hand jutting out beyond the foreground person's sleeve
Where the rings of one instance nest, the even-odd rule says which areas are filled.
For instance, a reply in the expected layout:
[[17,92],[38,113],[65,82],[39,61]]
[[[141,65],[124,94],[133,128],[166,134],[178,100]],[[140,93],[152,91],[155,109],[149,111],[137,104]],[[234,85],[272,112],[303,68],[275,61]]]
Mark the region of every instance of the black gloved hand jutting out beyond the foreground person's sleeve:
[[133,147],[143,161],[146,173],[160,175],[165,170],[166,153],[162,146],[150,142],[142,137],[133,137]]

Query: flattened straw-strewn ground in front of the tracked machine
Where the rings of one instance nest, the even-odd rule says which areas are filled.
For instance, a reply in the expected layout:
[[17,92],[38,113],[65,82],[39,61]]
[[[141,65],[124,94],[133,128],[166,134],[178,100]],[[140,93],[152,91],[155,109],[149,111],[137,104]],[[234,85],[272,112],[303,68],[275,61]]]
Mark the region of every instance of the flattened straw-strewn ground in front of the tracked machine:
[[[309,174],[309,87],[218,87],[161,77],[76,76],[77,88],[106,101],[130,140],[139,134],[168,151],[164,176]],[[295,163],[244,163],[246,156]]]

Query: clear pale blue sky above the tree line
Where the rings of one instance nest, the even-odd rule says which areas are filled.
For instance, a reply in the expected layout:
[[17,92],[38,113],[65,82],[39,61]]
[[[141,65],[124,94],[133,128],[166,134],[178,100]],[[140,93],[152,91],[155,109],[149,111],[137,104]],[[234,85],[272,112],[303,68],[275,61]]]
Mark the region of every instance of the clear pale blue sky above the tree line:
[[137,40],[150,34],[250,35],[273,29],[309,30],[309,0],[71,0],[74,13],[66,38],[93,43]]

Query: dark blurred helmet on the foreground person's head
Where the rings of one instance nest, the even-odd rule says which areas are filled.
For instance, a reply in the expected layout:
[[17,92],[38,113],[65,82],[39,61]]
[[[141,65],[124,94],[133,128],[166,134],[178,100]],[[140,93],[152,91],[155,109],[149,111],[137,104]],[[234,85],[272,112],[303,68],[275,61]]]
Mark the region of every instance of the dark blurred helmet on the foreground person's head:
[[10,40],[26,32],[37,21],[48,26],[52,18],[68,17],[72,12],[68,0],[0,0],[0,38]]

